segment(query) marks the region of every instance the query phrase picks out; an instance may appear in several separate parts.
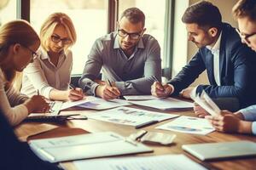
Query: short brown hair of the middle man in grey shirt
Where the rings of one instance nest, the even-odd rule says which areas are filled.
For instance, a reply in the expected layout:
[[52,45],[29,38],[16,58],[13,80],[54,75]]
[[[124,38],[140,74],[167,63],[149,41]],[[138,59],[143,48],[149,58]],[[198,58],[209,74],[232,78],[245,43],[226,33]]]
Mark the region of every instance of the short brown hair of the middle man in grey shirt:
[[120,20],[125,17],[128,19],[132,24],[137,24],[139,22],[143,23],[143,27],[145,26],[145,14],[139,8],[127,8],[121,14]]

